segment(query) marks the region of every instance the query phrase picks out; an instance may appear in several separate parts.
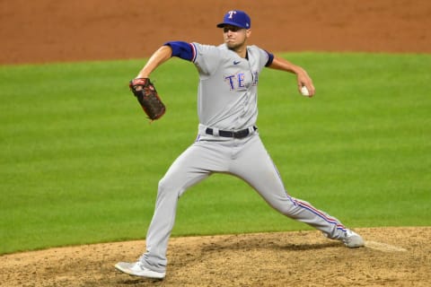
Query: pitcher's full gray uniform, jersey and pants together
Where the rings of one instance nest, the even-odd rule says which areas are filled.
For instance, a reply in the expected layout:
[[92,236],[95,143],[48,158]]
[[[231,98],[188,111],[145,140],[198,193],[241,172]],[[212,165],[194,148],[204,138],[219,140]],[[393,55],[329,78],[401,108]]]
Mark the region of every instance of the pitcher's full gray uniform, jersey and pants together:
[[277,168],[254,127],[258,117],[259,74],[271,57],[256,46],[239,57],[224,45],[182,46],[198,68],[198,139],[180,154],[159,182],[146,252],[147,268],[165,272],[166,249],[178,199],[191,186],[215,172],[242,178],[279,213],[321,230],[330,239],[345,237],[334,217],[286,193]]

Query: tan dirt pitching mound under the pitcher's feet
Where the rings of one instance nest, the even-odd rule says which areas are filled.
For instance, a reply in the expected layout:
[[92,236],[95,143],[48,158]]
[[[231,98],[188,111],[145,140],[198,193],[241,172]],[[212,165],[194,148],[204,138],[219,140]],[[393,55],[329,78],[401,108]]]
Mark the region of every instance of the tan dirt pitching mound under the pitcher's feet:
[[365,248],[319,231],[172,239],[163,281],[121,274],[145,241],[53,248],[0,257],[7,286],[431,286],[431,227],[356,229]]

